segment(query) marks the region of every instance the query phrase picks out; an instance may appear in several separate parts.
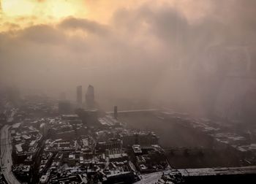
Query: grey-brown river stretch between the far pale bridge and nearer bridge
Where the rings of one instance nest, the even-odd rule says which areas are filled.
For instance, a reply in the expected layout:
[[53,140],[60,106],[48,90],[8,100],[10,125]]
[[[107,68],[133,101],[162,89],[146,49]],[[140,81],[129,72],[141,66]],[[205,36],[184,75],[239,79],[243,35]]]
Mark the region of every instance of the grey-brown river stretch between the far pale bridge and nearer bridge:
[[192,128],[180,126],[174,120],[165,120],[154,113],[120,114],[118,119],[134,129],[154,131],[162,147],[209,147],[211,140]]

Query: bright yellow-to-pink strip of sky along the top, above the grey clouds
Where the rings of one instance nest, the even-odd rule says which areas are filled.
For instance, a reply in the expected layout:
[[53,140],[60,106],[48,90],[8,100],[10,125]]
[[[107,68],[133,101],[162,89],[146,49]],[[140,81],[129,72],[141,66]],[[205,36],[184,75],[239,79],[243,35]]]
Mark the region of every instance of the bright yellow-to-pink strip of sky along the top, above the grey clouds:
[[[1,0],[4,23],[15,23],[21,27],[39,23],[58,23],[67,16],[86,18],[98,23],[110,23],[113,14],[120,9],[135,9],[143,4],[151,7],[170,6],[181,11],[187,18],[195,20],[211,10],[211,1],[191,0]],[[22,19],[23,21],[17,22]],[[8,29],[2,26],[1,29]]]

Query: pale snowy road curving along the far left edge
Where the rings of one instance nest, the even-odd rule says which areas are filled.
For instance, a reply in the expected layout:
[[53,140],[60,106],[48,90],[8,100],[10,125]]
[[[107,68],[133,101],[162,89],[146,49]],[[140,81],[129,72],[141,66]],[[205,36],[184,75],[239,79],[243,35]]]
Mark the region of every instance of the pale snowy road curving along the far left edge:
[[9,134],[10,126],[5,125],[1,129],[1,159],[2,172],[7,183],[20,184],[12,173],[12,144]]

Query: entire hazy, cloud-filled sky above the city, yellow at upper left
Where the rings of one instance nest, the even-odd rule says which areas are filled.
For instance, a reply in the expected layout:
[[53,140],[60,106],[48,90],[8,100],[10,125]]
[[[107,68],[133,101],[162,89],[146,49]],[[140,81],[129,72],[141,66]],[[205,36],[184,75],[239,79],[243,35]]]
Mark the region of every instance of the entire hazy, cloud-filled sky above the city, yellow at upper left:
[[0,84],[46,93],[92,84],[105,96],[204,108],[225,93],[223,77],[253,73],[255,8],[254,0],[1,0]]

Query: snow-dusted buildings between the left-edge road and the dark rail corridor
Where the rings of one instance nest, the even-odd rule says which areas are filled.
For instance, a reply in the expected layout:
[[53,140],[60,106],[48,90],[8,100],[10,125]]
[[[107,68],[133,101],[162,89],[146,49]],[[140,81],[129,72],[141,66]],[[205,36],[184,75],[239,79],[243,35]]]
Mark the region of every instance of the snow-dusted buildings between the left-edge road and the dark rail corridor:
[[31,180],[32,169],[43,145],[41,119],[26,119],[10,128],[12,142],[12,172],[18,180]]

